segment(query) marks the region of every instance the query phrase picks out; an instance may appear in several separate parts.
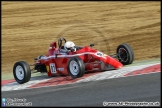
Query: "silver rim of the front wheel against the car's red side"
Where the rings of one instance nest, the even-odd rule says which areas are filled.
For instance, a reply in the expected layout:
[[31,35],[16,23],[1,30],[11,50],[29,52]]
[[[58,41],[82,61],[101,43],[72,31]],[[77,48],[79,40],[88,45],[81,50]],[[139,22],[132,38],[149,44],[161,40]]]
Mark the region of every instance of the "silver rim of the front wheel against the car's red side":
[[79,73],[79,66],[76,61],[70,62],[70,72],[72,75],[77,75]]

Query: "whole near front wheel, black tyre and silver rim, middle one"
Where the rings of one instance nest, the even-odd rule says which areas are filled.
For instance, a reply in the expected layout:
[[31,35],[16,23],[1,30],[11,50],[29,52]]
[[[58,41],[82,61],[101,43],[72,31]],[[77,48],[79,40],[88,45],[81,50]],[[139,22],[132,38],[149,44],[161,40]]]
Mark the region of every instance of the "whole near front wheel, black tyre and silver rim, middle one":
[[85,73],[85,65],[78,57],[70,58],[67,69],[72,78],[82,77]]

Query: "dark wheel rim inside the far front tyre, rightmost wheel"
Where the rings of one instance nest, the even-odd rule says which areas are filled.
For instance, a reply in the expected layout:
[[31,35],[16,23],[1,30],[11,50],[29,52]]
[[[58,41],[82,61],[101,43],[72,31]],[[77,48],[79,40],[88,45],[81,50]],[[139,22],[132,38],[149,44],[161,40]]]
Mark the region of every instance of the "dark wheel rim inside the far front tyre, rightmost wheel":
[[124,48],[120,48],[118,57],[121,62],[127,62],[128,61],[128,52]]

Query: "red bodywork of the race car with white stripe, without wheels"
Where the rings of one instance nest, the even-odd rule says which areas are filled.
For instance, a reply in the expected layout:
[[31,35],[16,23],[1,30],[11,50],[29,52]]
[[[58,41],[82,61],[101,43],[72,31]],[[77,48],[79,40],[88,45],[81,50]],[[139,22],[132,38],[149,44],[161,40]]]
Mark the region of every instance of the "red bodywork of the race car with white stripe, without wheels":
[[99,52],[91,47],[85,46],[76,52],[70,52],[68,55],[61,54],[56,48],[56,42],[50,44],[50,48],[46,57],[36,61],[40,64],[45,64],[48,76],[68,75],[68,62],[71,57],[79,57],[83,60],[85,70],[87,71],[104,71],[106,66],[111,66],[114,69],[123,67],[123,65],[108,55]]

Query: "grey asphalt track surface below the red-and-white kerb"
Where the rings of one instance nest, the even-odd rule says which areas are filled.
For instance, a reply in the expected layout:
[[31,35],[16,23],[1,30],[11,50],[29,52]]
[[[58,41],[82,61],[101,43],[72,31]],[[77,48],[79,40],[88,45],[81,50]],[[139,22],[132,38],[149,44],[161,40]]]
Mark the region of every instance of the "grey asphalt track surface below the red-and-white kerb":
[[[161,102],[161,72],[34,89],[4,91],[32,106],[103,106],[103,102]],[[160,103],[161,106],[161,103]]]

